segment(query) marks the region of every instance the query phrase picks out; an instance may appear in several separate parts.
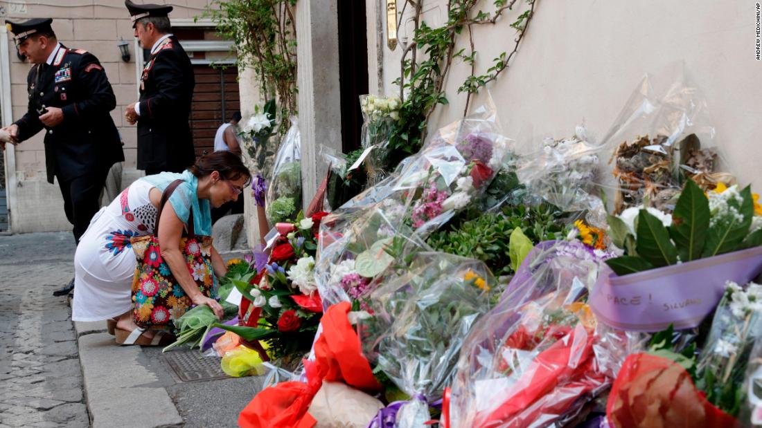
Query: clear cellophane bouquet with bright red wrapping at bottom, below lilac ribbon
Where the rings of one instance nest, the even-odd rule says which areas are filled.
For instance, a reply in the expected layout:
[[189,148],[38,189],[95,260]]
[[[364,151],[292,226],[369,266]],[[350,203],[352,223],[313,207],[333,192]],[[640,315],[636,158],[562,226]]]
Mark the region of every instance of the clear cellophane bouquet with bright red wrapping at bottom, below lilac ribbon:
[[610,380],[584,297],[610,254],[540,243],[463,344],[450,396],[460,427],[563,426]]

